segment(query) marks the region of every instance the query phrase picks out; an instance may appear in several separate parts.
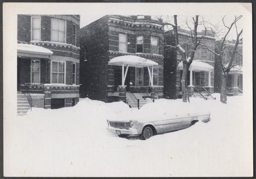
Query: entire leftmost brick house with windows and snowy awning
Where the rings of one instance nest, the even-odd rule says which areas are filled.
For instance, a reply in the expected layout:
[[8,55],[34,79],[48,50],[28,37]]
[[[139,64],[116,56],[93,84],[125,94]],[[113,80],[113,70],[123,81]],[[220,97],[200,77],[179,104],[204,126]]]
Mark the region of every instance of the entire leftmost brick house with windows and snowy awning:
[[79,25],[79,15],[18,15],[18,113],[28,107],[19,104],[24,96],[45,109],[78,103]]

